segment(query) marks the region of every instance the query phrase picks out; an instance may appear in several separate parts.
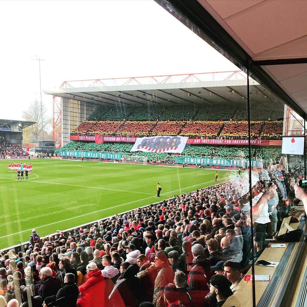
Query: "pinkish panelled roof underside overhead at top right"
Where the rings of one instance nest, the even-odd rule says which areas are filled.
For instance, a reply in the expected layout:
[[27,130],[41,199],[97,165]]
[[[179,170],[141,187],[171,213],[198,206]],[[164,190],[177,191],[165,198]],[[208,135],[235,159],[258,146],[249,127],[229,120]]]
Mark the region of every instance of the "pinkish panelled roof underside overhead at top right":
[[307,111],[306,1],[198,2]]

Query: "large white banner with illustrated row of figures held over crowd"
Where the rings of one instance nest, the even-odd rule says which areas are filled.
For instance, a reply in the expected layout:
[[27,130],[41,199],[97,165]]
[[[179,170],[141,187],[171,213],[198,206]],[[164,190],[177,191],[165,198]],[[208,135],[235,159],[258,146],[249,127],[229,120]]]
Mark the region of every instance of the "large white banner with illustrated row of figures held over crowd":
[[181,153],[188,138],[184,136],[153,136],[151,138],[137,138],[130,151],[144,151],[153,153]]

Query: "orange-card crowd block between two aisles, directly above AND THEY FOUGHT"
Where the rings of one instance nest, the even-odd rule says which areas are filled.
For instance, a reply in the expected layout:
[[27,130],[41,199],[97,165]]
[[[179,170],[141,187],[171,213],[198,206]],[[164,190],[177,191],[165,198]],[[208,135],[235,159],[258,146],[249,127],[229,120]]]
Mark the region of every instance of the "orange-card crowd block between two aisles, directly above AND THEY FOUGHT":
[[224,125],[224,122],[212,122],[212,121],[194,121],[187,122],[184,128],[181,130],[180,135],[188,136],[189,138],[216,138]]

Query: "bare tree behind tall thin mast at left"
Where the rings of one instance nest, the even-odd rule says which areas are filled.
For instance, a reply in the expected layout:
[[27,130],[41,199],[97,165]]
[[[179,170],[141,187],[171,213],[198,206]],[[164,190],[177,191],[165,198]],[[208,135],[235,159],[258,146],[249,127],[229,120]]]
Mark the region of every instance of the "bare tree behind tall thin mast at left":
[[[48,131],[51,128],[52,120],[46,115],[47,109],[44,104],[42,111],[43,114],[41,113],[41,103],[37,99],[35,99],[34,102],[30,104],[29,108],[22,112],[22,115],[25,120],[35,122],[34,125],[24,129],[24,142],[34,143],[37,142],[37,140],[44,140],[44,137],[47,137]],[[44,135],[42,135],[42,127],[44,130]]]

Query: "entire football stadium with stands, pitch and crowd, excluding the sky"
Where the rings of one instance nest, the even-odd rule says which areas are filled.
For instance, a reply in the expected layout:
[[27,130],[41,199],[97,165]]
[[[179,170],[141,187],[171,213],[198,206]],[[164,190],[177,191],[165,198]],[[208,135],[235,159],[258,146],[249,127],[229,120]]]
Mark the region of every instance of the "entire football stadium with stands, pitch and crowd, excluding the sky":
[[0,119],[0,306],[306,306],[306,2],[156,2],[238,69],[59,80],[35,148]]

